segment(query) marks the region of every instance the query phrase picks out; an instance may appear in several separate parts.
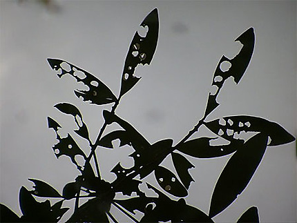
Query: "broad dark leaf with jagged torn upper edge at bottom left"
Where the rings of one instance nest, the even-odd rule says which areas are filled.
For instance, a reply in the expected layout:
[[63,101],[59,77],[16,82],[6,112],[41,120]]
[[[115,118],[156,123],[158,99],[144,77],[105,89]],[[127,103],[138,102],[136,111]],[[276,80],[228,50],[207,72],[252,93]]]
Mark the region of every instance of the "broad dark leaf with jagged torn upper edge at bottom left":
[[21,222],[58,222],[68,211],[68,208],[61,209],[61,202],[50,206],[50,201],[37,202],[25,187],[19,192],[19,204],[21,207]]

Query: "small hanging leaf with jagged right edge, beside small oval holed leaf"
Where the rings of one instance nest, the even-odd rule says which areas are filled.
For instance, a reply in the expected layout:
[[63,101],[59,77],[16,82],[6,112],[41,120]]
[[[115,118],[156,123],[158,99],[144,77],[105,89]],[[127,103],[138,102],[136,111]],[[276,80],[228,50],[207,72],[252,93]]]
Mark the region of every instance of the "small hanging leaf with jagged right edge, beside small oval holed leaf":
[[178,173],[178,176],[180,177],[180,180],[182,181],[182,184],[189,189],[189,186],[191,182],[194,182],[193,177],[191,177],[189,173],[189,168],[193,168],[193,164],[189,162],[186,157],[183,155],[180,155],[179,153],[171,153],[173,165],[175,167],[176,172]]

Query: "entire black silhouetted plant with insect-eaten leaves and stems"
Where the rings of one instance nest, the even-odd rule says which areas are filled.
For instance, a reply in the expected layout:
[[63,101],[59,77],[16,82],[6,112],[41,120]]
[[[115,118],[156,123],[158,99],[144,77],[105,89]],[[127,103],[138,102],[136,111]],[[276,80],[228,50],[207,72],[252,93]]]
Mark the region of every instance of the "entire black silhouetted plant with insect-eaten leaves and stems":
[[[60,103],[55,105],[61,113],[71,115],[74,118],[77,129],[75,133],[86,139],[89,145],[89,154],[85,149],[79,147],[72,135],[61,137],[59,134],[60,124],[48,117],[48,128],[52,128],[57,136],[58,143],[52,147],[57,158],[70,157],[80,174],[73,182],[69,182],[60,194],[46,182],[29,179],[35,186],[32,191],[22,187],[19,195],[19,202],[23,215],[18,217],[8,207],[1,204],[1,222],[57,222],[68,208],[62,208],[64,200],[75,200],[73,215],[68,222],[117,222],[111,213],[111,206],[122,211],[124,215],[131,218],[133,222],[213,222],[211,219],[218,213],[224,211],[236,197],[245,190],[260,164],[267,146],[277,146],[294,141],[294,137],[280,125],[269,122],[260,117],[247,115],[236,115],[222,117],[206,122],[206,117],[219,106],[216,98],[229,77],[233,77],[236,84],[244,75],[251,56],[255,36],[253,28],[249,28],[236,39],[242,43],[242,48],[233,59],[222,56],[213,75],[213,87],[215,93],[209,93],[206,110],[202,119],[192,130],[175,146],[173,139],[162,139],[151,144],[131,124],[117,116],[115,110],[120,99],[140,80],[135,77],[135,68],[142,64],[150,64],[157,46],[159,21],[157,9],[153,10],[141,23],[147,28],[145,35],[136,32],[131,46],[128,49],[124,70],[122,72],[122,84],[119,97],[97,77],[89,72],[74,66],[61,59],[48,59],[53,70],[56,70],[58,77],[71,75],[77,82],[82,82],[88,90],[75,90],[77,97],[84,101],[98,106],[113,104],[110,111],[103,110],[104,124],[99,131],[95,142],[89,137],[88,127],[83,120],[82,113],[73,104]],[[229,69],[222,69],[222,64],[229,64]],[[104,135],[106,126],[117,124],[119,129],[113,130]],[[211,132],[227,140],[228,144],[215,145],[211,141],[216,138],[198,137],[189,139],[197,132],[200,126],[205,126]],[[253,133],[249,139],[241,139],[240,133]],[[106,182],[99,172],[99,164],[96,157],[96,149],[113,148],[113,141],[119,139],[119,146],[131,146],[134,164],[131,168],[124,168],[117,163],[112,173],[116,179],[113,182]],[[232,155],[231,155],[232,154]],[[211,197],[209,213],[186,204],[184,197],[188,195],[191,182],[194,181],[189,169],[194,165],[189,162],[185,155],[199,159],[223,157],[231,155],[231,158],[224,166],[218,182]],[[84,166],[79,166],[77,156],[83,157]],[[162,161],[171,156],[175,173],[161,165]],[[95,161],[95,171],[90,160]],[[163,191],[158,190],[151,184],[146,183],[148,189],[155,192],[155,196],[147,196],[140,190],[142,179],[153,173],[157,183]],[[128,195],[128,199],[115,199],[116,193]],[[178,197],[174,200],[166,193]],[[55,197],[59,198],[52,206],[50,200],[37,202],[34,197]],[[87,197],[84,204],[79,204],[82,197]],[[135,211],[143,213],[140,220],[135,218]],[[252,206],[242,214],[238,222],[259,222],[258,209]]]

